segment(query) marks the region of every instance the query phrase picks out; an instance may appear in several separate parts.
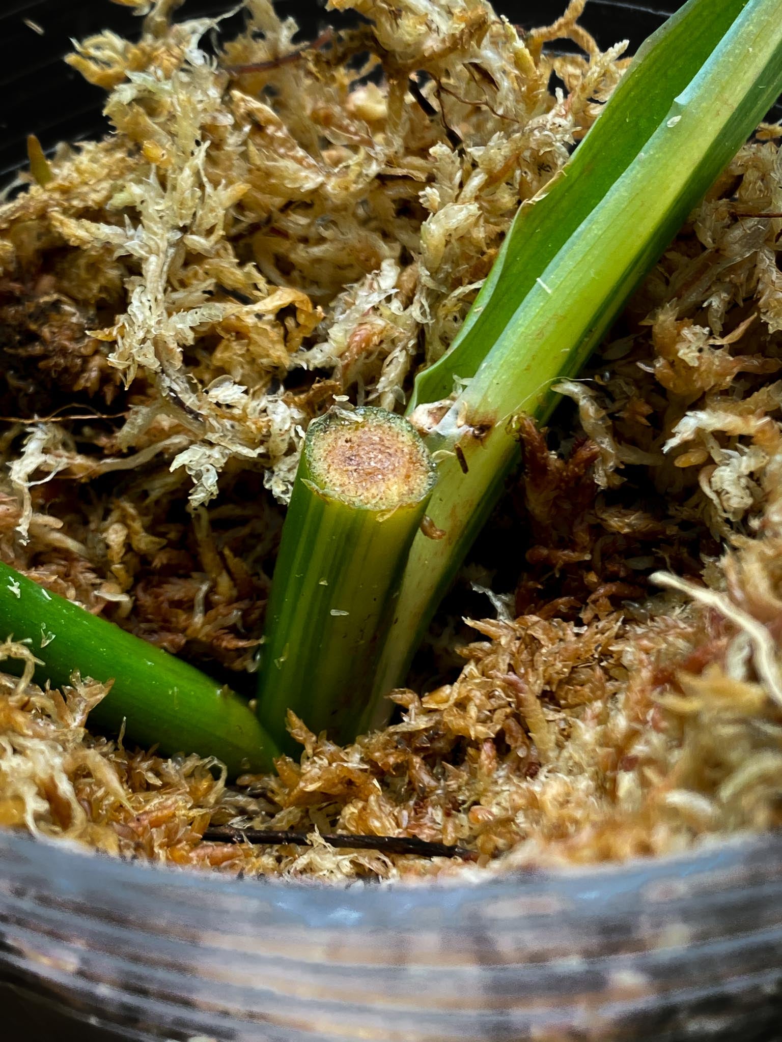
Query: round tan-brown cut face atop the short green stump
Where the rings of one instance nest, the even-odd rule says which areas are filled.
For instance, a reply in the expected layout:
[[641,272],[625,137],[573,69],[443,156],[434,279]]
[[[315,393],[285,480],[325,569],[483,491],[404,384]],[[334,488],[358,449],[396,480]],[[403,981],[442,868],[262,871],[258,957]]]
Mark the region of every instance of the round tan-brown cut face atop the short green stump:
[[312,480],[351,506],[390,511],[418,503],[434,483],[434,466],[407,420],[378,408],[329,414],[308,435]]

